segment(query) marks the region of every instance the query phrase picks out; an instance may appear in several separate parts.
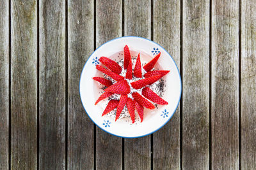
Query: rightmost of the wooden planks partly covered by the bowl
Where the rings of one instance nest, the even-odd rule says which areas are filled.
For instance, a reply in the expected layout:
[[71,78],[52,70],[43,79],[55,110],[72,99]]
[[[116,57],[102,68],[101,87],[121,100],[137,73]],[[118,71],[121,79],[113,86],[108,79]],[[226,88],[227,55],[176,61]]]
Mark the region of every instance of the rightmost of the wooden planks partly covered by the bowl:
[[[172,9],[172,10],[170,10]],[[154,0],[154,41],[180,65],[180,1]],[[167,142],[168,141],[168,142]],[[167,142],[167,143],[166,143]],[[180,111],[154,133],[154,169],[180,169]]]

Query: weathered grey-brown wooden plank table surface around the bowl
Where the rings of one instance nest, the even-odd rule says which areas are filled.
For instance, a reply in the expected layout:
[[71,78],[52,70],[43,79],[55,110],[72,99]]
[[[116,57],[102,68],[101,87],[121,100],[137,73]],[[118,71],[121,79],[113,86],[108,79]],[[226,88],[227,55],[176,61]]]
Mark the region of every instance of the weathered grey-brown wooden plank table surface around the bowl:
[[[151,136],[93,125],[90,54],[141,36],[178,64],[182,99]],[[2,0],[0,169],[256,169],[256,0]]]

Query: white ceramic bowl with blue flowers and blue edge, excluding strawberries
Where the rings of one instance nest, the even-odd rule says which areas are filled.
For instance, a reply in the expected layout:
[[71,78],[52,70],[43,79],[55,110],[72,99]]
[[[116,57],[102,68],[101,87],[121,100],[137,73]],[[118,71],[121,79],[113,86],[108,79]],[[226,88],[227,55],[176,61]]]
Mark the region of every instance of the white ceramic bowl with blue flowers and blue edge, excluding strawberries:
[[[100,101],[96,106],[94,105],[95,101],[100,96],[100,92],[102,93],[103,91],[103,86],[92,79],[94,76],[103,77],[103,73],[98,71],[95,67],[97,64],[100,64],[99,58],[105,56],[118,61],[124,57],[122,53],[125,45],[129,46],[131,55],[134,57],[140,52],[141,63],[148,62],[156,56],[157,53],[161,52],[161,57],[157,61],[156,67],[163,70],[170,70],[170,73],[163,77],[166,87],[164,87],[162,98],[168,101],[168,105],[158,104],[155,110],[144,109],[143,122],[140,122],[140,117],[138,117],[138,113],[136,113],[136,122],[134,124],[131,124],[130,117],[122,118],[122,116],[120,116],[116,122],[115,115],[109,116],[110,113],[102,117],[101,115],[108,99]],[[132,67],[134,67],[134,65]],[[88,116],[103,131],[122,138],[139,138],[159,130],[172,118],[179,104],[180,95],[180,73],[171,55],[154,41],[135,36],[115,38],[97,48],[89,57],[86,64],[84,64],[80,78],[81,101]]]

